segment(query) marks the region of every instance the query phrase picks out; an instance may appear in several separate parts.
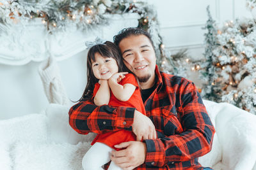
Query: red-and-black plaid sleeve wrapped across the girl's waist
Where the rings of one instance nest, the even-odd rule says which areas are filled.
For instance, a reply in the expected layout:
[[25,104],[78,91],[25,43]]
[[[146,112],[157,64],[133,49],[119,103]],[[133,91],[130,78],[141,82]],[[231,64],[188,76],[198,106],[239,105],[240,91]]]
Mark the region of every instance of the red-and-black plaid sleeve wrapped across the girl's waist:
[[127,129],[132,131],[134,108],[108,105],[96,106],[92,101],[81,101],[68,112],[70,126],[79,134]]

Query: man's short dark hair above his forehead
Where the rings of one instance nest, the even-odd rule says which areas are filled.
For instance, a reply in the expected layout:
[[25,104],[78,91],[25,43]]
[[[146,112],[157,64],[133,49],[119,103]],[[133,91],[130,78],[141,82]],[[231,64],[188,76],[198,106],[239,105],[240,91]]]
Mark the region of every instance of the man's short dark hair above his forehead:
[[144,31],[143,29],[136,28],[136,27],[129,27],[129,28],[122,29],[121,31],[118,32],[116,36],[114,36],[113,42],[115,43],[116,46],[119,46],[119,43],[120,41],[122,41],[122,39],[128,38],[129,36],[140,36],[140,35],[147,36],[151,45],[154,48],[154,43],[152,41],[150,34],[147,31]]

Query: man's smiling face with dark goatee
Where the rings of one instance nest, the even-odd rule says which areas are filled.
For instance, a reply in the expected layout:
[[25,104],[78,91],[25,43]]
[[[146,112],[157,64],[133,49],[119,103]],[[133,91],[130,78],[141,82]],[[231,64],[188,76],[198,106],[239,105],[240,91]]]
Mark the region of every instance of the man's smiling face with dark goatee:
[[156,69],[156,53],[147,36],[129,36],[122,39],[119,48],[125,66],[132,71],[141,83],[153,83]]

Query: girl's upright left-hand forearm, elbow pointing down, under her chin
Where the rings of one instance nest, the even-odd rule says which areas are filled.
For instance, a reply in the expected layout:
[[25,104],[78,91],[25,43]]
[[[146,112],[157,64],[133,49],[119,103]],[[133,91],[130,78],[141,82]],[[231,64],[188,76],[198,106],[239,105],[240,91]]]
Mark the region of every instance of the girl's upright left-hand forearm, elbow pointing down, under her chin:
[[101,106],[109,103],[110,91],[108,80],[99,80],[100,88],[94,96],[93,102],[96,106]]

